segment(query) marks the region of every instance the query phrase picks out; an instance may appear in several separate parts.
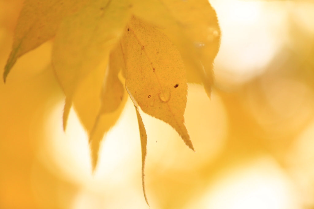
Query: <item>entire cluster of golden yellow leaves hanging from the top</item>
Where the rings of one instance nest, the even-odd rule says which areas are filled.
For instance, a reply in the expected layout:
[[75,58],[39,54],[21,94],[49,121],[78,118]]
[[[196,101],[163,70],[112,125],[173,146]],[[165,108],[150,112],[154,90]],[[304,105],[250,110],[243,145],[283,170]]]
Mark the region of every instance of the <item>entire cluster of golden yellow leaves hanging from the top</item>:
[[[52,65],[66,96],[63,128],[73,104],[89,134],[93,169],[126,102],[121,75],[134,105],[171,125],[194,150],[184,124],[187,81],[203,83],[210,96],[219,36],[207,0],[26,0],[3,78],[20,56],[54,37]],[[147,140],[136,111],[144,176]]]

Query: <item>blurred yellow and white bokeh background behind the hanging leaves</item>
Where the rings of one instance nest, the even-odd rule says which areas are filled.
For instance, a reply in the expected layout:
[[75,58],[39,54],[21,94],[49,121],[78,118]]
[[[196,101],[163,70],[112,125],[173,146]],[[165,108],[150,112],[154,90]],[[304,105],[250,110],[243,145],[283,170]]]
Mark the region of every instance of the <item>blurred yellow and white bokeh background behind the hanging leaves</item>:
[[[23,0],[0,0],[0,68]],[[222,31],[211,100],[189,84],[196,153],[143,114],[152,209],[314,208],[314,2],[211,0]],[[52,41],[0,82],[0,209],[149,208],[129,99],[91,172],[88,139],[50,66]]]

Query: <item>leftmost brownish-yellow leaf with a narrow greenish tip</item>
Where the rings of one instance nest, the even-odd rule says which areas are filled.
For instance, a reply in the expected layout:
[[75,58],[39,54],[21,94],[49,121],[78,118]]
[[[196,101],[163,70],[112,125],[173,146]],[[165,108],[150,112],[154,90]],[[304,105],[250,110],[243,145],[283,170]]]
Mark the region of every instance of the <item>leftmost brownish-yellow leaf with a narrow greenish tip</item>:
[[3,79],[6,80],[16,60],[51,39],[62,19],[82,8],[90,0],[26,0],[19,15],[14,43]]

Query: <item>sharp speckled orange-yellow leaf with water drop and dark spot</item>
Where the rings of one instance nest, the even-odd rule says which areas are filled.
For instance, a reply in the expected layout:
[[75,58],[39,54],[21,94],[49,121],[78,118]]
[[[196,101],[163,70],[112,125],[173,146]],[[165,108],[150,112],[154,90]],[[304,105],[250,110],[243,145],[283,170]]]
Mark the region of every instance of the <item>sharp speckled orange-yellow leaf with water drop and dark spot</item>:
[[184,125],[187,78],[176,46],[166,35],[133,17],[122,47],[129,94],[143,112],[170,124],[194,150]]

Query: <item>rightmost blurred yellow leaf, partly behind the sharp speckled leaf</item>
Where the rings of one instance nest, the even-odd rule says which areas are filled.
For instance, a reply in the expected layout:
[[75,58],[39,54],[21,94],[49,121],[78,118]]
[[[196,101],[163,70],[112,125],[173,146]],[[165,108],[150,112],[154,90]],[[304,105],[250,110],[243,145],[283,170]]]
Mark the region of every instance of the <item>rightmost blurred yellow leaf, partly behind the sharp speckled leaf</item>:
[[160,28],[178,47],[186,64],[188,82],[203,83],[210,96],[220,29],[208,0],[133,0],[133,3],[134,15]]

